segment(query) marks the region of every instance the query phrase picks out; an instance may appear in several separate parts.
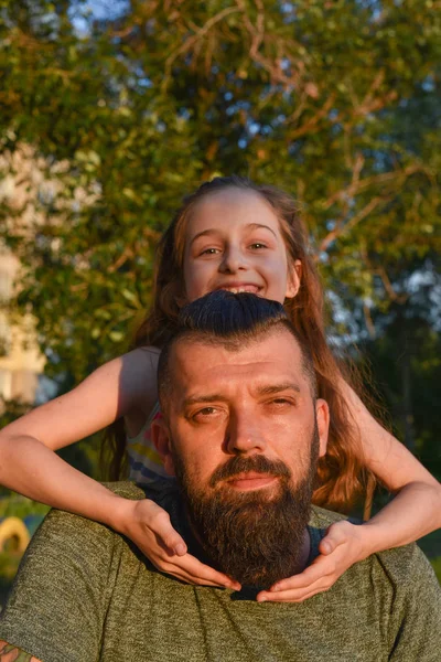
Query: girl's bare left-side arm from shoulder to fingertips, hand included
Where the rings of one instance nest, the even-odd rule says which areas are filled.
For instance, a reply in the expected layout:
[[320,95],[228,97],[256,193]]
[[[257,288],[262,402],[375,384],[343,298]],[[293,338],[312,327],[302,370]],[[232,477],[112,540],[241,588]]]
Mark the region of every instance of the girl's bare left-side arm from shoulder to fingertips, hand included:
[[185,554],[184,541],[155,503],[118,496],[54,452],[120,416],[133,425],[139,421],[141,427],[157,401],[155,363],[157,353],[135,350],[3,428],[0,483],[35,501],[111,526],[130,537],[161,570],[184,581],[236,586]]

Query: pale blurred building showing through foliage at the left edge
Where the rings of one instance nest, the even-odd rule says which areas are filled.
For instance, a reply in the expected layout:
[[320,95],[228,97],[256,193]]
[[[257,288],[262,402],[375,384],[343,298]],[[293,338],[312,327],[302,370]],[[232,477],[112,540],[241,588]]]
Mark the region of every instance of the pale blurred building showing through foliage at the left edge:
[[[13,132],[7,136],[14,140]],[[63,223],[72,210],[94,204],[100,188],[92,182],[72,190],[69,163],[43,158],[29,145],[15,145],[13,151],[0,152],[0,205],[9,210],[0,217],[2,232],[35,241],[39,228],[49,218],[54,225]],[[68,182],[68,195],[63,194]],[[71,178],[71,179],[69,179]],[[53,242],[57,242],[53,238]],[[37,404],[53,397],[56,387],[40,378],[44,359],[39,353],[34,319],[31,314],[12,322],[8,302],[20,288],[20,261],[0,244],[0,401],[21,399]],[[37,388],[41,386],[41,388]]]

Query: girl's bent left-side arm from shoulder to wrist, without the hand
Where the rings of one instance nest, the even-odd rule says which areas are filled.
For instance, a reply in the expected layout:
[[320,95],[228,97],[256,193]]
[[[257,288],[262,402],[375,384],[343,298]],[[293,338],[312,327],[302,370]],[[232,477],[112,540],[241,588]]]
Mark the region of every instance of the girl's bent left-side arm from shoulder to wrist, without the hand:
[[155,383],[150,386],[150,363],[143,350],[130,352],[3,428],[0,483],[47,505],[109,524],[118,498],[54,451],[139,409],[140,391],[146,394],[146,407],[152,405]]

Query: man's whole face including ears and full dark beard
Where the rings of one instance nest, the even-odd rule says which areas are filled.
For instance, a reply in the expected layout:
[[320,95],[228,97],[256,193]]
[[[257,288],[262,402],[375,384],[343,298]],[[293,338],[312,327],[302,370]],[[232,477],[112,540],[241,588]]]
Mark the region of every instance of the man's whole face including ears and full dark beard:
[[238,352],[183,340],[170,366],[153,436],[206,552],[241,583],[298,572],[327,407],[313,402],[295,340],[281,329]]

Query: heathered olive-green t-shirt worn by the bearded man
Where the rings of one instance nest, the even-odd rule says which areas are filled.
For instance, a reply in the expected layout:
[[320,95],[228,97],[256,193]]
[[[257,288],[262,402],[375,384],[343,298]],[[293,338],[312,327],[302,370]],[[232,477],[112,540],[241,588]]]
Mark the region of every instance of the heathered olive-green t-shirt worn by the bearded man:
[[[112,489],[144,496],[131,483]],[[185,532],[173,487],[146,494]],[[338,519],[313,508],[313,555]],[[110,528],[53,511],[26,551],[0,639],[43,662],[435,662],[441,590],[423,554],[408,545],[354,565],[304,602],[258,604],[162,575]]]

